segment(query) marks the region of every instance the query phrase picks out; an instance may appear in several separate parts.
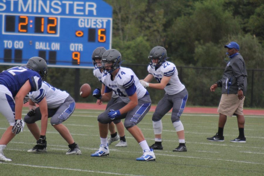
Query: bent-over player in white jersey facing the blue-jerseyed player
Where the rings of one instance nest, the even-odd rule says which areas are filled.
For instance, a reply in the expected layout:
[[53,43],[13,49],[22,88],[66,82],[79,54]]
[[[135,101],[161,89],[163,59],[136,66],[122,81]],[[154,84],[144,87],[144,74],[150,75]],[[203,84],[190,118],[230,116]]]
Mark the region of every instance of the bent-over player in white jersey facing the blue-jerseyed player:
[[[56,89],[47,82],[43,82],[41,88],[35,92],[29,92],[29,109],[31,109],[28,114],[24,117],[28,129],[31,131],[35,139],[37,140],[37,145],[28,152],[46,152],[47,151],[47,141],[45,134],[40,133],[38,125],[35,123],[41,120],[41,129],[43,123],[47,129],[48,118],[51,117],[51,125],[60,133],[60,135],[67,141],[70,148],[66,155],[81,155],[82,152],[79,145],[74,142],[70,131],[66,126],[62,124],[67,120],[75,110],[74,99],[65,91]],[[36,104],[39,107],[36,107]],[[42,110],[48,112],[47,118],[43,121]],[[41,140],[40,140],[41,139]]]

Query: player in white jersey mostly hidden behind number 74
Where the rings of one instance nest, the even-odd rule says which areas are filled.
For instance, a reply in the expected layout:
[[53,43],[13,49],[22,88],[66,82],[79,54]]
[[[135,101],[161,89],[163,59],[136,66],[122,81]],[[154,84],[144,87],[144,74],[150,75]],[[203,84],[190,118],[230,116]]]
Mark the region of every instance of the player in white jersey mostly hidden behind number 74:
[[[98,47],[93,51],[93,54],[92,54],[92,60],[93,60],[93,64],[95,67],[94,76],[97,77],[98,80],[102,83],[101,94],[104,94],[104,89],[105,89],[105,85],[103,84],[101,80],[104,75],[103,69],[101,67],[101,59],[105,51],[106,49],[104,47]],[[119,101],[122,101],[119,98],[119,96],[116,94],[113,94],[111,100],[107,103],[106,109],[112,104],[119,102]],[[103,102],[101,100],[97,100],[98,105],[101,105],[102,103]],[[119,135],[117,134],[115,130],[115,125],[116,125]],[[108,145],[120,139],[119,143],[116,144],[115,147],[126,147],[127,146],[124,125],[120,119],[109,123],[109,131],[110,131],[111,137],[107,140]]]

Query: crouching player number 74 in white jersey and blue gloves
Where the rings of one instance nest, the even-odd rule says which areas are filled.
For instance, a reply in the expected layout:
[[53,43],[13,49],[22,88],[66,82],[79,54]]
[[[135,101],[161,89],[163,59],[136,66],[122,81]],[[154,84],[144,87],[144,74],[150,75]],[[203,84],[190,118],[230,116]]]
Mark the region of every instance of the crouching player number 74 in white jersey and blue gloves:
[[102,77],[105,91],[104,94],[101,94],[100,89],[95,89],[93,96],[101,101],[109,101],[114,93],[122,101],[111,105],[98,116],[101,145],[99,150],[91,156],[109,155],[107,144],[108,124],[114,120],[125,119],[124,126],[139,143],[144,153],[136,160],[155,160],[153,150],[148,147],[142,131],[136,126],[150,109],[149,93],[139,83],[138,77],[131,69],[120,67],[121,62],[122,57],[118,50],[110,49],[104,52],[101,63],[103,71],[106,73]]

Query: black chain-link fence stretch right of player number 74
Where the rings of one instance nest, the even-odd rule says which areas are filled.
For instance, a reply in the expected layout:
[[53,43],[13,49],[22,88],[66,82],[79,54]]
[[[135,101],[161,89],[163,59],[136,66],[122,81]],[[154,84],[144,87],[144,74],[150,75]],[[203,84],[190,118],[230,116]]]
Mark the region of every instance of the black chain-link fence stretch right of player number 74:
[[[131,68],[139,79],[148,74],[147,65],[123,65]],[[224,68],[185,67],[176,66],[181,82],[188,90],[187,105],[218,106],[221,98],[221,88],[215,92],[210,87],[222,78]],[[247,94],[244,107],[264,107],[264,70],[247,69]],[[153,80],[155,83],[155,80]],[[154,104],[158,103],[165,91],[148,88]]]

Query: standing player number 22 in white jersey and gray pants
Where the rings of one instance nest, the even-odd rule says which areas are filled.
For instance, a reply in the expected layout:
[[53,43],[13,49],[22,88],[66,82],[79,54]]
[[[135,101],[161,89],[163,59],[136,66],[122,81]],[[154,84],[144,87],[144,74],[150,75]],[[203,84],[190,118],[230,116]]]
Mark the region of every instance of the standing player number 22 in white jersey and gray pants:
[[[161,133],[163,116],[172,108],[171,121],[179,138],[179,146],[175,148],[174,152],[186,152],[184,128],[180,121],[180,116],[185,108],[185,104],[188,98],[188,92],[185,86],[180,82],[178,77],[178,71],[176,66],[172,62],[166,61],[167,51],[161,46],[154,47],[148,56],[149,74],[144,80],[140,80],[140,83],[144,87],[151,87],[154,89],[165,90],[165,95],[161,99],[155,109],[152,116],[155,143],[150,146],[154,150],[162,150],[161,145]],[[153,78],[158,83],[149,83]]]

